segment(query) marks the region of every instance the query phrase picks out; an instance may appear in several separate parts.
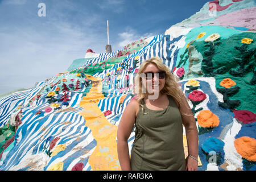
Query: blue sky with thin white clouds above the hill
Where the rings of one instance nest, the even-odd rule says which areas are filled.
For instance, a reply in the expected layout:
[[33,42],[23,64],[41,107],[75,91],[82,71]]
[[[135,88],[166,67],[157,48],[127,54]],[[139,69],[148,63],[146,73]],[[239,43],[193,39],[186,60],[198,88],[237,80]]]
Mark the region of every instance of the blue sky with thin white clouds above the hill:
[[[46,17],[38,16],[39,3]],[[67,71],[88,48],[105,52],[164,34],[205,0],[0,0],[0,94],[28,88]]]

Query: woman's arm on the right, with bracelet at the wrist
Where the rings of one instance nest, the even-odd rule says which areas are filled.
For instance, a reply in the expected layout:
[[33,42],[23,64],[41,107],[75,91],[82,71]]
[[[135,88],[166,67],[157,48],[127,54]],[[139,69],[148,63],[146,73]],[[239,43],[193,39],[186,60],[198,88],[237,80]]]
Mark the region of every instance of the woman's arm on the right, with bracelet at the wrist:
[[[183,113],[187,114],[181,115],[181,118],[185,127],[185,133],[187,137],[188,154],[191,155],[193,158],[198,159],[198,130],[196,126],[196,121],[192,110],[188,105],[188,102],[185,100],[184,95],[183,97],[184,100],[183,104],[180,106],[180,110]],[[188,156],[187,158],[187,169],[189,171],[195,171],[198,169],[198,162],[191,156]]]

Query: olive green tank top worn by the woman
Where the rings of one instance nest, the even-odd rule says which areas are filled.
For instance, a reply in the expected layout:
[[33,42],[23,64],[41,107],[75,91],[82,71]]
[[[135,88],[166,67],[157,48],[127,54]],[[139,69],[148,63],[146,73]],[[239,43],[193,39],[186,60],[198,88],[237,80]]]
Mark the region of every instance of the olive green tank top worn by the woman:
[[131,170],[184,170],[183,126],[179,108],[172,96],[164,110],[140,106],[135,121],[135,139],[131,149]]

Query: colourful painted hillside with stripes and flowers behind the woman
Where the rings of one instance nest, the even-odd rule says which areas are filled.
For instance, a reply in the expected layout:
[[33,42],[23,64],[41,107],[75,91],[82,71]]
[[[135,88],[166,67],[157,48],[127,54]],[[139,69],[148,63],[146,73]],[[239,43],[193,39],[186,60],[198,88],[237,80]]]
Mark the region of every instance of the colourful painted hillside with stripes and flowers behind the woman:
[[[120,170],[117,129],[134,76],[159,56],[195,115],[199,170],[254,171],[255,17],[253,0],[210,1],[161,35],[88,51],[67,71],[1,98],[0,170]],[[133,141],[134,130],[130,150]]]

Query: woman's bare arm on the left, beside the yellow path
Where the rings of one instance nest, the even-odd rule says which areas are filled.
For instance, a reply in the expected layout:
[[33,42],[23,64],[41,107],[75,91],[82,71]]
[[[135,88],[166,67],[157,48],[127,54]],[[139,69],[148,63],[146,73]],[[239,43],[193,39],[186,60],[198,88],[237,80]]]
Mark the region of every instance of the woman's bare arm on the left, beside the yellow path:
[[131,170],[127,140],[130,137],[131,131],[134,127],[137,108],[137,100],[131,100],[123,111],[117,130],[117,154],[121,169],[123,171]]

